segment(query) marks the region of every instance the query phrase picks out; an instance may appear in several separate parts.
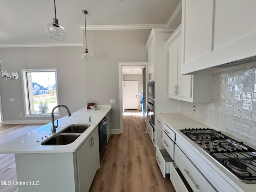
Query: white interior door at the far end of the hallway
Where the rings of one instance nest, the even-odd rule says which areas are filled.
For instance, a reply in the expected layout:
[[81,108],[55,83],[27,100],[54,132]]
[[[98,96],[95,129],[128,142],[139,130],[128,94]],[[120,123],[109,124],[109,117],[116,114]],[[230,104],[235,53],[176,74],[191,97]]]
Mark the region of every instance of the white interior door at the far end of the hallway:
[[124,109],[138,109],[138,81],[124,81]]

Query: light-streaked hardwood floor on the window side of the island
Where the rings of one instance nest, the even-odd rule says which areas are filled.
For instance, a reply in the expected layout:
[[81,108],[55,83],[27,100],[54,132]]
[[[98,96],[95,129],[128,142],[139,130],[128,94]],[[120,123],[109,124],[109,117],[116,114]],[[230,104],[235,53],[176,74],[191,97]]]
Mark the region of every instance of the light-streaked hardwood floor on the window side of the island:
[[[44,124],[0,124],[0,144],[26,134]],[[0,182],[17,181],[14,154],[0,154]],[[2,185],[0,192],[18,192],[18,186]]]

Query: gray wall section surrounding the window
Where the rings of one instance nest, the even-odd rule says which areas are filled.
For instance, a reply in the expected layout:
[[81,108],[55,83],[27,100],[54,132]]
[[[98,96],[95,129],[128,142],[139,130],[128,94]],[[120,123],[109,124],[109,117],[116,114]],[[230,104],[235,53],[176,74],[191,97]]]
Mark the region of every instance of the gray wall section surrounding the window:
[[[2,68],[9,72],[17,71],[19,74],[18,80],[0,80],[2,121],[50,122],[47,117],[25,118],[20,69],[57,68],[60,104],[67,105],[70,112],[84,107],[86,98],[82,50],[82,47],[0,48]],[[10,98],[15,101],[11,102]],[[60,109],[60,116],[66,116],[64,108]]]

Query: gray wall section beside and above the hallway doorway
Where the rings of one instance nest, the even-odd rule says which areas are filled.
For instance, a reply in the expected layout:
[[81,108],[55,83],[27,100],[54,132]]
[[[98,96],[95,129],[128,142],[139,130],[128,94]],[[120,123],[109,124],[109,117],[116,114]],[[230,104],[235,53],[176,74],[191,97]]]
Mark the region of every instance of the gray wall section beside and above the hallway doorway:
[[[147,62],[146,42],[151,30],[88,31],[87,47],[92,60],[85,61],[86,100],[96,104],[112,103],[112,128],[120,129],[119,62]],[[118,129],[118,130],[115,130]]]

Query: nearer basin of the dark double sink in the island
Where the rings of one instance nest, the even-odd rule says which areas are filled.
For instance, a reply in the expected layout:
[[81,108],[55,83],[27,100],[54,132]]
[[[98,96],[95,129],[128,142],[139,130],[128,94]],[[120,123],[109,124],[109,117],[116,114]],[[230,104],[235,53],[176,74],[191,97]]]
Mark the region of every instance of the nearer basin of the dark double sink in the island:
[[67,145],[74,142],[80,134],[58,134],[48,138],[41,145]]

